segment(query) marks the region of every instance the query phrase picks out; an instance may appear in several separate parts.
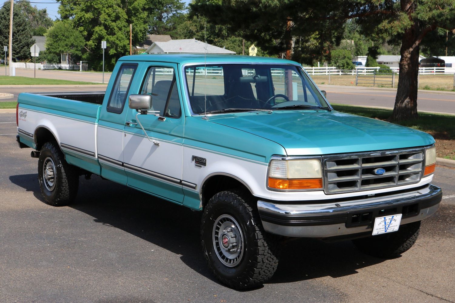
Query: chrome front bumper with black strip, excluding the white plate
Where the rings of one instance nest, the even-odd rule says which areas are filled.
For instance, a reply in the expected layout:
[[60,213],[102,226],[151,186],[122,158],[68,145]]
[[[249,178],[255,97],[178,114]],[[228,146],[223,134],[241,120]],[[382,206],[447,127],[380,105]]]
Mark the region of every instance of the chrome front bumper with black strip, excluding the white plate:
[[369,232],[375,217],[403,214],[401,224],[420,221],[434,214],[442,190],[427,185],[406,192],[359,200],[329,200],[318,204],[258,201],[266,231],[287,237],[338,237]]

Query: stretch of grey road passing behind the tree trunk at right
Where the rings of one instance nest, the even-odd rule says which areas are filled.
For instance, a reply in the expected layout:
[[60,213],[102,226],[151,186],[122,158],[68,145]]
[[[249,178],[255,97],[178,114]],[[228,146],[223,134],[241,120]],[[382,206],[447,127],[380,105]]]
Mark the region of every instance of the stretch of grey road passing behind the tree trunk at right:
[[[319,88],[327,91],[330,103],[389,109],[395,104],[396,89],[338,85],[319,85]],[[417,110],[455,115],[455,92],[419,90]]]

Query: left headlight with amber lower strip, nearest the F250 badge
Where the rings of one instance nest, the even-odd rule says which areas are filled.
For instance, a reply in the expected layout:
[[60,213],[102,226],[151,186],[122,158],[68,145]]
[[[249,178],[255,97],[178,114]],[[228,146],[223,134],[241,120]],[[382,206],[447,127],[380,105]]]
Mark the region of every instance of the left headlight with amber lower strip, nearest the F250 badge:
[[318,159],[272,160],[268,187],[282,190],[322,188],[322,169]]

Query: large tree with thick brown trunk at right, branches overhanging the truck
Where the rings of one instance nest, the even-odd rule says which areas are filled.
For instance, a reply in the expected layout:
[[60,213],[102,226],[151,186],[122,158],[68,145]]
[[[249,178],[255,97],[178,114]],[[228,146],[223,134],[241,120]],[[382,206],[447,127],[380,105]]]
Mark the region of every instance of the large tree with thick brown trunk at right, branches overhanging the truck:
[[293,45],[293,59],[303,63],[339,45],[349,19],[356,19],[365,35],[401,44],[391,120],[417,117],[422,41],[437,28],[455,30],[455,0],[194,0],[190,7],[274,53]]

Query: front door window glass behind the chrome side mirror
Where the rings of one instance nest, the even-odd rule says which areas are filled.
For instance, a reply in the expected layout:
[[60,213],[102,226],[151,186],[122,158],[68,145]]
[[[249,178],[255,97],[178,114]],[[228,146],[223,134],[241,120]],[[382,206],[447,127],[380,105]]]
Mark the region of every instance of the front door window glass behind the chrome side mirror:
[[159,111],[159,115],[164,117],[180,117],[182,111],[173,68],[149,67],[142,83],[141,94],[152,96],[151,111]]

